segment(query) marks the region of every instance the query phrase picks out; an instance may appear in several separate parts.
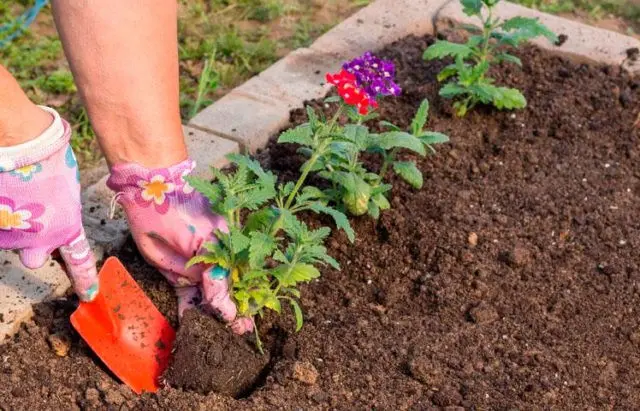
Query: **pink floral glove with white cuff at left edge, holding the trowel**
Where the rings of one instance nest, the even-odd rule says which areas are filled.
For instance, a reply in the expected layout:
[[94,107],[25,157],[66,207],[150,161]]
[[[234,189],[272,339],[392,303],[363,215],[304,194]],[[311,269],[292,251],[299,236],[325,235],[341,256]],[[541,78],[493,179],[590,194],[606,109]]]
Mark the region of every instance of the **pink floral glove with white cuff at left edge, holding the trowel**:
[[80,174],[71,129],[54,110],[52,124],[26,143],[0,147],[0,249],[17,250],[28,268],[60,250],[78,296],[98,293],[96,262],[82,227]]

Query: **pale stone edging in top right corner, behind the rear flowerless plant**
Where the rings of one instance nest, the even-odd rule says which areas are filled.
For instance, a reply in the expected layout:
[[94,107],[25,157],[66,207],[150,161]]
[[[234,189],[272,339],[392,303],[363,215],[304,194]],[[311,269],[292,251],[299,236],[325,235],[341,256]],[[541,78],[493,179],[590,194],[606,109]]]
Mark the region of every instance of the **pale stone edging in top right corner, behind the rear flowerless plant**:
[[[571,57],[576,61],[621,65],[632,72],[640,71],[640,61],[633,62],[627,59],[627,50],[640,47],[640,41],[633,37],[508,2],[498,4],[494,15],[502,19],[515,16],[539,18],[557,35],[567,36],[561,46],[551,44],[544,38],[533,40],[533,43],[540,48]],[[459,24],[478,25],[478,21],[464,14],[460,3],[457,0],[452,0],[436,16],[436,27],[438,31],[442,31]]]

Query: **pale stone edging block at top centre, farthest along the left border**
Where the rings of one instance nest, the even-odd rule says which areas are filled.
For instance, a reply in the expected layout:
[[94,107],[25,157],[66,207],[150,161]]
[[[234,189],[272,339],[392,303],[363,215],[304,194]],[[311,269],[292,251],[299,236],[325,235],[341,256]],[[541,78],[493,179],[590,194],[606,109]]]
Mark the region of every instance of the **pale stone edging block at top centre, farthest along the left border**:
[[377,0],[325,33],[311,49],[346,60],[410,34],[433,33],[433,19],[448,0]]

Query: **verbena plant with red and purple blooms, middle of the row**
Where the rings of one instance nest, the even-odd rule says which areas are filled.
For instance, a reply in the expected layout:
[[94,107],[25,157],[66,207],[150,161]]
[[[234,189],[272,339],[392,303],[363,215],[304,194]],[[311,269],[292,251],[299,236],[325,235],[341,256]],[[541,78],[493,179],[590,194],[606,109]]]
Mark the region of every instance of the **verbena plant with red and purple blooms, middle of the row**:
[[[389,131],[372,133],[364,125],[377,117],[377,98],[400,94],[394,76],[393,63],[371,53],[345,63],[339,73],[327,74],[327,81],[340,96],[325,100],[339,103],[334,116],[327,121],[308,107],[309,121],[283,133],[278,140],[302,146],[300,152],[308,157],[303,173],[314,171],[327,180],[331,186],[323,190],[322,198],[352,215],[378,218],[381,210],[390,208],[386,193],[391,185],[385,183],[385,177],[391,167],[413,187],[422,187],[422,173],[415,162],[397,161],[401,149],[424,156],[427,150],[433,150],[432,145],[449,141],[444,134],[424,130],[429,109],[426,100],[409,132],[382,122]],[[350,120],[346,125],[338,124],[342,114]],[[365,152],[382,156],[378,173],[364,166],[361,155]]]

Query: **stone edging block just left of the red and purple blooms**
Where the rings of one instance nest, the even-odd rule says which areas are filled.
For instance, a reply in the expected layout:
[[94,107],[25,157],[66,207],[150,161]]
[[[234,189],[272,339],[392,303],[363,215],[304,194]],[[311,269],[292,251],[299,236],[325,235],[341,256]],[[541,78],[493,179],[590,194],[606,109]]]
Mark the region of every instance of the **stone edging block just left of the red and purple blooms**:
[[326,85],[325,74],[338,71],[341,66],[342,61],[332,54],[297,49],[237,87],[236,91],[264,96],[294,109],[302,107],[305,101],[324,97],[330,88]]

